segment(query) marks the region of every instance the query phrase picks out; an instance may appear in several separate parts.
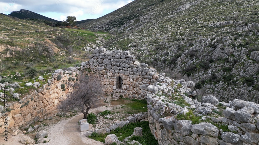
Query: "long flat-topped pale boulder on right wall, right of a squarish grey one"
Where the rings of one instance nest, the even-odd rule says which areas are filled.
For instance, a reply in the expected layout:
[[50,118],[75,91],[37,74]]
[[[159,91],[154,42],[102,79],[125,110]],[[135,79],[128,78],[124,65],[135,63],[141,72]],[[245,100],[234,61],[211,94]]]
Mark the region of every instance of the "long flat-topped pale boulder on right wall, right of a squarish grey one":
[[219,135],[218,127],[207,122],[192,125],[191,131],[195,134],[201,134],[206,136],[218,137]]

